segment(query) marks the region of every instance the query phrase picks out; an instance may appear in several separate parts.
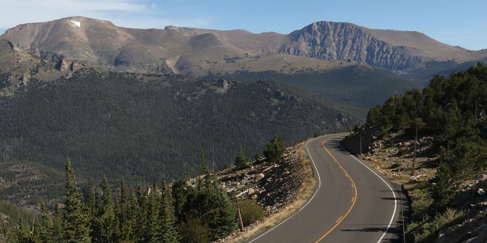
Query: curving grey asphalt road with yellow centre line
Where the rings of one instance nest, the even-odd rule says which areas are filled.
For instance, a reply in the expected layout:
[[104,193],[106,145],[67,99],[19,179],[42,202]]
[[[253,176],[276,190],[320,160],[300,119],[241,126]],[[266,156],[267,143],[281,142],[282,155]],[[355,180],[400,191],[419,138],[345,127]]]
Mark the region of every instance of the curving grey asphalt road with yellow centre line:
[[[312,139],[306,148],[317,185],[307,204],[247,243],[402,242],[400,186],[347,153],[342,135]],[[406,200],[403,197],[404,207]]]

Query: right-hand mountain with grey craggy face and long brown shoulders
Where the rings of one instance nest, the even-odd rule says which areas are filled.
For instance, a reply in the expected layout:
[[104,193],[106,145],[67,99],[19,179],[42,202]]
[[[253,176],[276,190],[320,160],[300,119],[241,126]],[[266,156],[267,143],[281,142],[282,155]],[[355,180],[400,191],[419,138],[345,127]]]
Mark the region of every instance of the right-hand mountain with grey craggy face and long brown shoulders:
[[256,51],[281,52],[323,60],[351,59],[401,74],[432,69],[420,78],[429,78],[438,68],[450,70],[464,62],[483,61],[487,58],[487,49],[469,51],[415,31],[369,29],[346,22],[318,21],[288,35],[272,32],[253,34],[243,30],[171,28],[189,35],[213,33],[235,46]]

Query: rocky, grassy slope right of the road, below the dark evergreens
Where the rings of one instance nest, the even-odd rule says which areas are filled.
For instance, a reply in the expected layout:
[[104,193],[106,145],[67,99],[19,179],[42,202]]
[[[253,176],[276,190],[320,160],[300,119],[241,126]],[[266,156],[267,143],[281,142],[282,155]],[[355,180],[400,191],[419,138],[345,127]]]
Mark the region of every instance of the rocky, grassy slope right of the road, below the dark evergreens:
[[377,127],[362,127],[345,138],[342,145],[390,180],[403,185],[412,202],[413,222],[407,226],[406,233],[411,234],[414,242],[424,242],[417,239],[431,233],[423,228],[438,230],[435,243],[487,242],[487,174],[461,182],[451,209],[425,218],[422,210],[428,210],[432,202],[431,187],[437,170],[435,160],[438,156],[431,152],[432,142],[431,137],[418,137],[414,176],[411,175],[414,138],[406,136],[404,131],[384,134]]

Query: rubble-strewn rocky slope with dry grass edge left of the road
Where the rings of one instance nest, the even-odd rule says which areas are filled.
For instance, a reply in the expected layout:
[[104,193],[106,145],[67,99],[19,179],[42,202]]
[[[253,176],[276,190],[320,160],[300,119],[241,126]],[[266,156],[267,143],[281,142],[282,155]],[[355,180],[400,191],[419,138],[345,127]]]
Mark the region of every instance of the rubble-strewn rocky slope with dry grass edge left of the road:
[[[262,220],[233,232],[220,239],[219,243],[249,238],[264,228],[276,225],[304,205],[314,190],[315,179],[303,147],[304,143],[298,143],[286,148],[280,163],[267,164],[261,158],[254,160],[247,169],[224,170],[217,175],[232,200],[237,195],[239,198],[253,198],[267,211]],[[196,186],[196,179],[189,183]]]

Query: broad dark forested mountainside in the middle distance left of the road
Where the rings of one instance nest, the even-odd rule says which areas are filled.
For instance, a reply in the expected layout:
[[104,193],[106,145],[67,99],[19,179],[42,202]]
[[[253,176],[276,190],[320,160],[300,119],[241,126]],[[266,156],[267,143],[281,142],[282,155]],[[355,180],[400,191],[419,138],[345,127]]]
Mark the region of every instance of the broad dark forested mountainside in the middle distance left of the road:
[[[221,169],[242,144],[245,156],[265,148],[279,134],[294,144],[315,133],[334,131],[338,111],[294,87],[195,80],[83,69],[72,78],[46,84],[31,80],[14,97],[0,98],[0,174],[8,165],[31,164],[48,176],[36,180],[29,203],[61,193],[63,161],[71,158],[79,178],[107,176],[111,183],[172,181],[196,174],[202,148],[207,163]],[[341,116],[340,121],[347,120]],[[350,124],[345,124],[350,125]],[[41,166],[42,168],[39,168]],[[54,171],[48,171],[48,169]],[[27,190],[29,180],[0,190],[8,200]],[[29,184],[30,183],[30,184]]]

